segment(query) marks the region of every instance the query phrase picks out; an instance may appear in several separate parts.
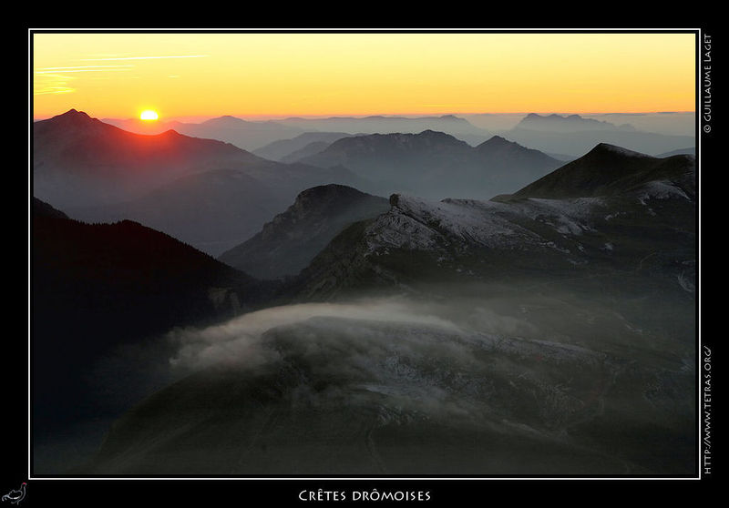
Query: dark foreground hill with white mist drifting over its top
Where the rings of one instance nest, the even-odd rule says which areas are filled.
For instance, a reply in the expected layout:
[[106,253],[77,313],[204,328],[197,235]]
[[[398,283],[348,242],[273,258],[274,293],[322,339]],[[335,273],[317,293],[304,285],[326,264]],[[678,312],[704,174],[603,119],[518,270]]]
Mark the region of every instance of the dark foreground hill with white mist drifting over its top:
[[[172,331],[144,375],[148,391],[174,382],[79,471],[693,472],[693,295],[608,280],[419,294]],[[148,352],[108,365],[151,363]]]

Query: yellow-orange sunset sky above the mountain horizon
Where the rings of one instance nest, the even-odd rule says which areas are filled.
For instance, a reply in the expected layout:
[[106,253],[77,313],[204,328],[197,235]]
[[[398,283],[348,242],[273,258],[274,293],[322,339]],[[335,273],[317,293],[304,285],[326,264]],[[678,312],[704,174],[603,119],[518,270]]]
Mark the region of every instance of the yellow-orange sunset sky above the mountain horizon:
[[694,34],[32,35],[36,119],[693,111]]

